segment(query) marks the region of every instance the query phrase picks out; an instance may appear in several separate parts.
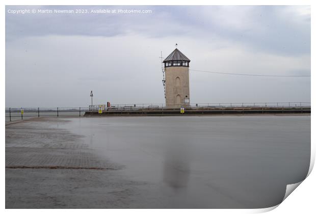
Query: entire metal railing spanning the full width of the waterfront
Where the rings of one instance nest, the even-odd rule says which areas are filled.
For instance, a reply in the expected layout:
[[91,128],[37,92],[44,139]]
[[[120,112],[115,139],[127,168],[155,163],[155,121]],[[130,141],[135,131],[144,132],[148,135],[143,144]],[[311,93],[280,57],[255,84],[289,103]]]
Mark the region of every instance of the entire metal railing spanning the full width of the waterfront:
[[[106,104],[89,105],[89,108],[82,107],[56,107],[56,108],[6,108],[6,121],[23,120],[34,117],[82,117],[86,111],[146,111],[146,110],[170,110],[181,107],[181,103],[166,106],[164,103],[141,103],[141,104],[111,104],[108,108]],[[310,108],[310,102],[225,102],[225,103],[194,103],[183,105],[186,109],[207,110],[223,108]],[[212,111],[215,111],[212,110]]]

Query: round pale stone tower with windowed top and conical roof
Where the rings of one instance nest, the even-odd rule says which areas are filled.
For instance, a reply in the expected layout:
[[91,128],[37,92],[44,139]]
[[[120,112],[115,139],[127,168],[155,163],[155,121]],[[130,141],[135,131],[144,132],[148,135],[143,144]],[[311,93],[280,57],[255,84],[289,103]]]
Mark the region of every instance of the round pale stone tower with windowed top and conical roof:
[[177,48],[164,60],[167,107],[190,105],[189,63],[189,58]]

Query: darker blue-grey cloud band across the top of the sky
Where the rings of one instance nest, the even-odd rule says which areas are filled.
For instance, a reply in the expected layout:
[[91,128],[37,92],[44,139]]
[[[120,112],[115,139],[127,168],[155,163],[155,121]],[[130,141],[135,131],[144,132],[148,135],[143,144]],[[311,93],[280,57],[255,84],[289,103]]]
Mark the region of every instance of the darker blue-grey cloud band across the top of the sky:
[[[11,7],[7,6],[7,9],[9,8]],[[30,8],[34,7],[30,6]],[[310,52],[310,14],[300,15],[293,11],[284,13],[288,6],[43,6],[41,8],[151,9],[153,13],[28,14],[23,15],[23,18],[6,13],[6,39],[44,35],[111,37],[130,33],[148,37],[187,35],[204,39],[219,37],[245,45],[253,51],[283,55]],[[233,10],[244,10],[245,13],[230,14]]]

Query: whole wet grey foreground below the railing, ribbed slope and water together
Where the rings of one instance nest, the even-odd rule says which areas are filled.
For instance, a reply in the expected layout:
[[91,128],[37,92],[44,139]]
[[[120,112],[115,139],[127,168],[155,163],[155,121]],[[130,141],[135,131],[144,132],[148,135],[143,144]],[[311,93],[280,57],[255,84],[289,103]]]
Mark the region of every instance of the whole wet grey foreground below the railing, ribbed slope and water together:
[[6,208],[265,208],[305,178],[310,116],[6,126]]

